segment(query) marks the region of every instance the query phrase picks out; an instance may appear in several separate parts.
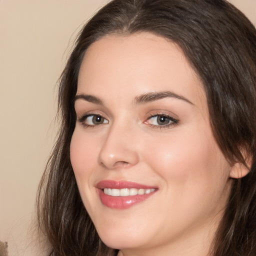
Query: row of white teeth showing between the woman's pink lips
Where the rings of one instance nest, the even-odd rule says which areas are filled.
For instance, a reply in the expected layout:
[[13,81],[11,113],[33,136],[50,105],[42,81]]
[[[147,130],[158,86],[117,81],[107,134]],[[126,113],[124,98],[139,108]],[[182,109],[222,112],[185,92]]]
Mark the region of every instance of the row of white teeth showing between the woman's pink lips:
[[137,189],[137,188],[104,188],[103,192],[107,195],[112,196],[128,196],[128,195],[141,195],[141,194],[149,194],[151,192],[155,191],[155,188],[147,188],[147,189]]

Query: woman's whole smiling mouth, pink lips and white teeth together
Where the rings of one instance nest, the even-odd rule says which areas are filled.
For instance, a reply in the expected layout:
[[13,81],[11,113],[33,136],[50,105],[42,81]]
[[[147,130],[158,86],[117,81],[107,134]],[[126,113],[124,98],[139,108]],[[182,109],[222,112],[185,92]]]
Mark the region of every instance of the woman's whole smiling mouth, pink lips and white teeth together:
[[130,181],[102,180],[96,184],[101,203],[114,209],[127,209],[145,201],[158,188]]

